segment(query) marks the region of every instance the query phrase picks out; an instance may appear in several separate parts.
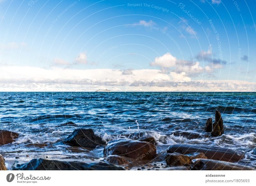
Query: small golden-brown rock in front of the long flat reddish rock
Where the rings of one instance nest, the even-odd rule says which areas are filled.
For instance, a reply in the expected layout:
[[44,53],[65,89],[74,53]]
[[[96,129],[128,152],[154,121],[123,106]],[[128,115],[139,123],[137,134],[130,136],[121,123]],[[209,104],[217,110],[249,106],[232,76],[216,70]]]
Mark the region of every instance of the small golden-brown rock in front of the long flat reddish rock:
[[204,153],[202,152],[195,152],[191,154],[179,154],[179,153],[167,153],[166,155],[166,164],[173,167],[173,166],[188,166],[191,164],[192,159],[197,159],[197,158],[205,158],[207,159],[206,156],[204,156]]

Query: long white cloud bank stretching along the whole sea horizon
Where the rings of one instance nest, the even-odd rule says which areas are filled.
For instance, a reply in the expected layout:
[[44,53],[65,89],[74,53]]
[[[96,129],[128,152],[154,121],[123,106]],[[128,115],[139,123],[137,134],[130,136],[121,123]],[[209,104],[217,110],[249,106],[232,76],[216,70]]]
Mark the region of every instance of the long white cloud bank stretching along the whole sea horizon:
[[118,69],[49,69],[1,66],[0,91],[256,91],[256,83],[237,80],[193,81],[185,72],[160,73],[156,69],[133,70],[122,75]]

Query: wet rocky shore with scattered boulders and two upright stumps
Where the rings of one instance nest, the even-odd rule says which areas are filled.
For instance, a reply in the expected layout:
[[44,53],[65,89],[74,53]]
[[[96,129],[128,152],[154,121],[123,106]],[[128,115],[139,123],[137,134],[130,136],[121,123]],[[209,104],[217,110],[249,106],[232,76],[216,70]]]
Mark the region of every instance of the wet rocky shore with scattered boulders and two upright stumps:
[[[189,136],[190,139],[216,137],[224,134],[224,123],[219,111],[215,121],[209,118],[202,134],[176,131],[175,136]],[[19,134],[0,130],[0,145],[12,143]],[[95,135],[93,129],[75,129],[63,144],[86,148],[88,151],[102,147],[103,157],[99,159],[54,159],[37,158],[27,162],[15,161],[12,170],[255,170],[240,163],[244,153],[206,144],[174,144],[158,152],[159,145],[154,137],[138,140],[121,138],[108,143]],[[45,144],[37,144],[45,147]],[[252,149],[256,154],[256,150]],[[7,170],[5,159],[0,155],[0,170]]]

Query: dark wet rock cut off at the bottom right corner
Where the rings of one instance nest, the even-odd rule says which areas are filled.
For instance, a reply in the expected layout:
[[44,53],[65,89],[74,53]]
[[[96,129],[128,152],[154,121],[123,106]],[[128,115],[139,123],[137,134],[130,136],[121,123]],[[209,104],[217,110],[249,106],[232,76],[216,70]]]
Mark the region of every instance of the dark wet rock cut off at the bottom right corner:
[[256,170],[251,167],[211,159],[193,159],[190,170]]

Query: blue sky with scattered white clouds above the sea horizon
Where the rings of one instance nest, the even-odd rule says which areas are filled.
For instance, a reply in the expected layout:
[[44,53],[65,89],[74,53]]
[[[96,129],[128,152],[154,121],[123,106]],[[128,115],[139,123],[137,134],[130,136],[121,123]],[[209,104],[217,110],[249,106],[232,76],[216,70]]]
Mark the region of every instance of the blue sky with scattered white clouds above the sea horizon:
[[0,0],[0,91],[256,91],[255,8]]

